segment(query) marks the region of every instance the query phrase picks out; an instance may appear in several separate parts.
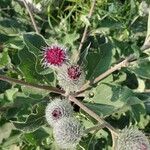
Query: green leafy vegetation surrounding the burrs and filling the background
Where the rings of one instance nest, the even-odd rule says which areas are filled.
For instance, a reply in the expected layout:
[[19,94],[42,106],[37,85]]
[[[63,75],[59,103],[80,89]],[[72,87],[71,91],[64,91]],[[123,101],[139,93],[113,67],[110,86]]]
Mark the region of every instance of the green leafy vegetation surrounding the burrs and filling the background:
[[97,0],[90,11],[93,4],[34,0],[33,26],[23,1],[0,0],[0,149],[58,149],[45,108],[66,94],[56,72],[42,65],[42,49],[51,44],[67,47],[71,63],[85,71],[83,91],[67,95],[76,118],[86,129],[105,123],[77,150],[111,150],[115,132],[129,126],[150,138],[150,9],[141,12],[140,0]]

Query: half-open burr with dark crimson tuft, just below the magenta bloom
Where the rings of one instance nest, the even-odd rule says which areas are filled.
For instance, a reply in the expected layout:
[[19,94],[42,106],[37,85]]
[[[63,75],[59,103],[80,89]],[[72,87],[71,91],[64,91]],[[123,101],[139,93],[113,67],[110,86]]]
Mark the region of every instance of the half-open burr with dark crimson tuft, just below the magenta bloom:
[[58,71],[59,85],[68,92],[78,91],[85,81],[85,74],[79,65],[64,65]]

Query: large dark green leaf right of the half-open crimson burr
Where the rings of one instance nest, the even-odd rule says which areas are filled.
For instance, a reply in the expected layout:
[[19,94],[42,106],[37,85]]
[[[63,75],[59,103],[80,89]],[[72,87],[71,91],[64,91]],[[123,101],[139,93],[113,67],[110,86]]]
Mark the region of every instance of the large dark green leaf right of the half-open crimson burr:
[[87,79],[93,79],[106,71],[111,64],[112,45],[110,42],[100,45],[87,55]]

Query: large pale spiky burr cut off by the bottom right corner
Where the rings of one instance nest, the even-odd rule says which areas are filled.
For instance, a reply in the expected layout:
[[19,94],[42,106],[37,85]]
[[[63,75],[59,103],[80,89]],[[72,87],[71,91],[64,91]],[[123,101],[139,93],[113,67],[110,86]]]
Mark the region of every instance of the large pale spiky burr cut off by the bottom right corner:
[[118,137],[116,150],[150,150],[150,144],[138,129],[125,128]]

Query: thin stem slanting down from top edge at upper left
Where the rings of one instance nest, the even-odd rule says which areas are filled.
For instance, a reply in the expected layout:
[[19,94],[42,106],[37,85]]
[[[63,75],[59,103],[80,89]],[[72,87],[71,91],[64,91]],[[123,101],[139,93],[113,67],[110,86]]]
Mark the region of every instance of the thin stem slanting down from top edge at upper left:
[[32,21],[32,24],[33,24],[33,27],[34,27],[36,33],[39,33],[39,30],[38,30],[37,25],[35,23],[35,19],[33,17],[32,11],[30,10],[30,7],[28,6],[28,3],[26,2],[26,0],[23,0],[23,3],[24,3],[24,5],[25,5],[25,7],[26,7],[26,9],[30,15],[30,18],[31,18],[31,21]]

